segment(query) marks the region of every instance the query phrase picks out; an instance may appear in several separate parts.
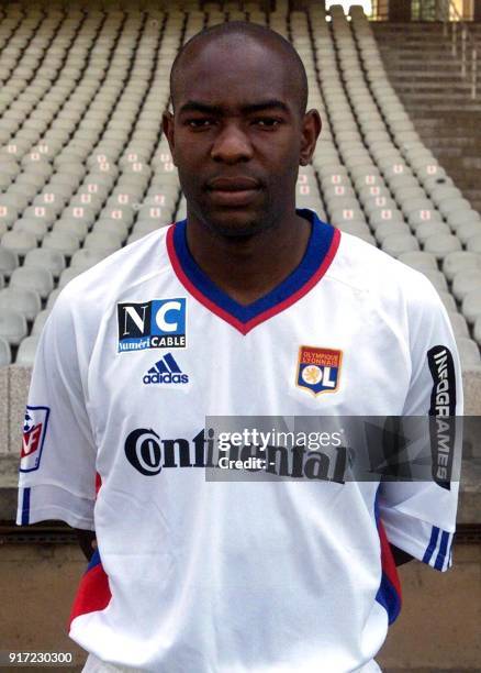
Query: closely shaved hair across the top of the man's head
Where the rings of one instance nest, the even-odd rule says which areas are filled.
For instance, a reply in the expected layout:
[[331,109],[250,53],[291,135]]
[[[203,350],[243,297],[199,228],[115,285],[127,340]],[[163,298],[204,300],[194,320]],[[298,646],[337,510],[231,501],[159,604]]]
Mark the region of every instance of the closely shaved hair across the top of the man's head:
[[[191,37],[177,54],[170,70],[170,98],[176,108],[177,92],[188,77],[188,68],[192,59],[211,44],[225,47],[226,56],[232,49],[248,52],[249,47],[260,45],[272,53],[272,58],[280,60],[280,65],[289,80],[291,92],[299,101],[299,110],[304,114],[307,106],[307,77],[304,65],[298,52],[282,35],[275,31],[247,21],[232,21],[220,23]],[[212,73],[215,76],[215,71]]]

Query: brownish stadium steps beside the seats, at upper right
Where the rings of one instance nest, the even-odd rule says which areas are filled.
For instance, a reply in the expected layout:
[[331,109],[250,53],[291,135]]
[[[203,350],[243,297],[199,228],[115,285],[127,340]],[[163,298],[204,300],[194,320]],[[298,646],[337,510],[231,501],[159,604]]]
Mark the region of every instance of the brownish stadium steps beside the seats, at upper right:
[[[481,81],[477,100],[439,23],[373,23],[389,79],[416,131],[472,207],[481,210]],[[473,34],[481,46],[481,30]],[[422,57],[422,62],[421,62]]]

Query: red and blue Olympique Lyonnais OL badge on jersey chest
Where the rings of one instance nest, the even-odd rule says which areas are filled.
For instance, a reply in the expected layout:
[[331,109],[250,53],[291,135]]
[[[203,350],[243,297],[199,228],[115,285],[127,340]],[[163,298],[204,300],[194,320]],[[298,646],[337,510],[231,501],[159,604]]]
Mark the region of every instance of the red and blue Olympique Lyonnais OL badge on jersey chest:
[[334,393],[339,385],[342,351],[301,346],[297,372],[297,385],[312,395]]

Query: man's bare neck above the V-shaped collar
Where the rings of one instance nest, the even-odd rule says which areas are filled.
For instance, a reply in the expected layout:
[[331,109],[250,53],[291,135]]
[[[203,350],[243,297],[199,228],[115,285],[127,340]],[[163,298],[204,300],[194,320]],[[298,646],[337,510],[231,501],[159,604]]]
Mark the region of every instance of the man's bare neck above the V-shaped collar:
[[247,306],[267,295],[302,261],[311,224],[295,212],[254,236],[216,235],[188,218],[187,243],[204,274],[232,299]]

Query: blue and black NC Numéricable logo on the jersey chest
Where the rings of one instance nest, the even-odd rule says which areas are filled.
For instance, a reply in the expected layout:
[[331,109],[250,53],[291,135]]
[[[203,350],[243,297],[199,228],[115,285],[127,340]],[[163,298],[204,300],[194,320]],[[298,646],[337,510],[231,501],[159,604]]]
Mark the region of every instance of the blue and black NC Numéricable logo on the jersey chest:
[[146,349],[184,349],[184,297],[118,304],[119,353]]

